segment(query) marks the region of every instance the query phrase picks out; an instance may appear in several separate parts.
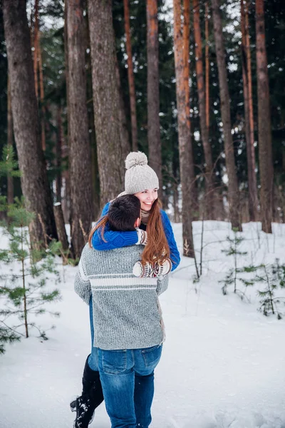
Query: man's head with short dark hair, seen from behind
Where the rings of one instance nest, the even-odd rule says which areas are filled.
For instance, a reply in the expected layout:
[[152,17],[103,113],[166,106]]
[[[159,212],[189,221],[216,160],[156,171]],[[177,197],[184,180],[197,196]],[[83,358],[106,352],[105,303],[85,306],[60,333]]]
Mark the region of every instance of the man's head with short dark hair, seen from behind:
[[140,225],[140,200],[135,195],[123,195],[113,200],[108,223],[111,230],[135,230]]

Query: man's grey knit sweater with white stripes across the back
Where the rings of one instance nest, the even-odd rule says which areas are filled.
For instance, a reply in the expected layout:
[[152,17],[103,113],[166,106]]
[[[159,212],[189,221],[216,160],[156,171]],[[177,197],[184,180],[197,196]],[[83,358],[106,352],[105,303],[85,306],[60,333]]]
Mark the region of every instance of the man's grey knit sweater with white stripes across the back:
[[108,251],[83,248],[74,287],[87,304],[92,296],[95,347],[138,349],[162,343],[157,296],[167,289],[168,277],[133,275],[142,250],[142,245]]

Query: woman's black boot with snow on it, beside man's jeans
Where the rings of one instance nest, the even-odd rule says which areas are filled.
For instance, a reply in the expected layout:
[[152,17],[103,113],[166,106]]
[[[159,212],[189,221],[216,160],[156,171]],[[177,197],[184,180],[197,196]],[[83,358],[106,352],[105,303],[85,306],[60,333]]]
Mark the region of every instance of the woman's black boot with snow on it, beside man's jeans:
[[99,372],[94,372],[88,365],[88,358],[85,363],[83,378],[83,391],[81,397],[77,397],[71,402],[71,411],[76,412],[74,428],[88,428],[88,424],[93,421],[93,414],[96,407],[103,402],[103,392],[99,377]]

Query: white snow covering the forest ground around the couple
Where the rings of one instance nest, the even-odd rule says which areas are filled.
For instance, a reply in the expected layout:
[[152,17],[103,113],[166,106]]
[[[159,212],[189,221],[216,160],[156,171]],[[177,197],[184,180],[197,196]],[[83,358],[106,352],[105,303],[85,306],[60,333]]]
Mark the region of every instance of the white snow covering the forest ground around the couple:
[[[182,251],[182,226],[173,225]],[[285,263],[285,225],[274,233],[259,223],[244,225],[241,245],[248,254],[238,264]],[[194,223],[199,264],[202,223]],[[167,339],[155,371],[152,428],[285,428],[284,320],[257,311],[259,283],[247,291],[250,302],[222,295],[222,280],[232,267],[229,223],[204,222],[203,272],[193,282],[192,259],[182,258],[161,298]],[[7,245],[2,237],[1,248]],[[59,259],[58,259],[59,263]],[[0,265],[1,272],[7,269]],[[62,273],[62,267],[60,267]],[[38,317],[49,340],[37,337],[7,345],[0,356],[1,428],[72,427],[69,402],[81,392],[81,376],[90,352],[88,307],[73,291],[75,267],[65,267],[53,304],[61,317]],[[104,404],[90,428],[110,427]]]

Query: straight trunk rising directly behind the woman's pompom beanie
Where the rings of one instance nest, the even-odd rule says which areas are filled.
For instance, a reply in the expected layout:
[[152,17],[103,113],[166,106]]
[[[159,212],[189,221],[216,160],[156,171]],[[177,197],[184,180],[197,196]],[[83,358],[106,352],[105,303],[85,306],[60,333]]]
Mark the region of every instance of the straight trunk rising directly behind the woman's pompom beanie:
[[162,156],[160,140],[160,82],[158,70],[157,0],[147,0],[147,142],[150,166],[160,182],[162,199]]

